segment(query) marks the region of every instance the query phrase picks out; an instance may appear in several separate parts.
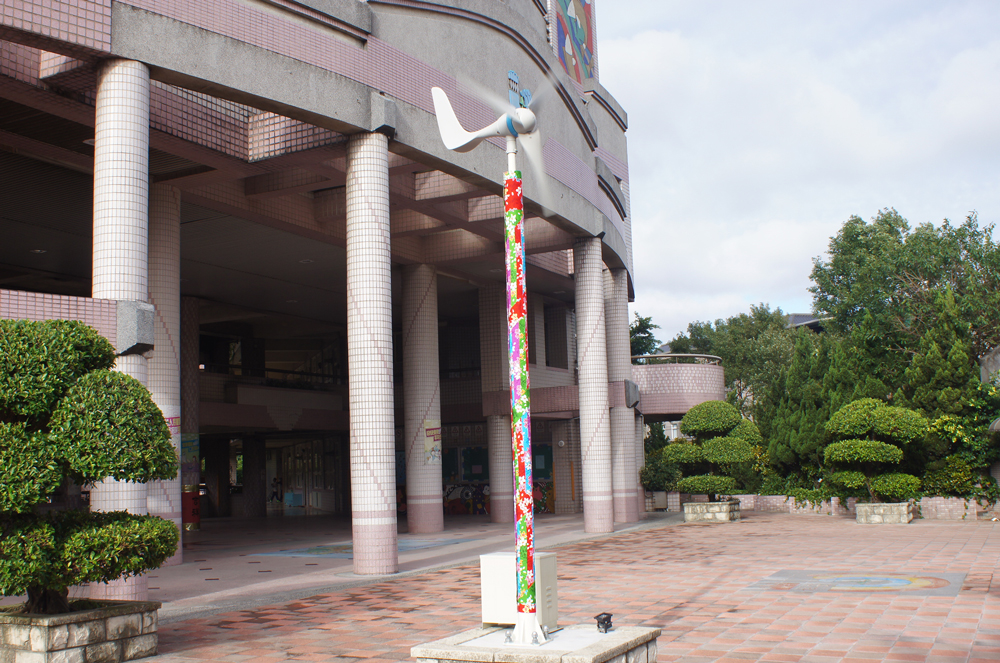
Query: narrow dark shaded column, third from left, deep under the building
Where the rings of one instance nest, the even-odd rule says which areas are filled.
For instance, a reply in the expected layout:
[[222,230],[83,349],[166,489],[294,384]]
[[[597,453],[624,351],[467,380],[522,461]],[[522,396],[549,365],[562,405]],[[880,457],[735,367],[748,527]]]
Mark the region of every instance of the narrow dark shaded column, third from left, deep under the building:
[[[201,320],[196,297],[181,297],[181,493],[198,495],[201,483],[200,402],[201,371],[198,366]],[[183,498],[182,498],[183,499]],[[182,514],[184,529],[201,529],[199,513]]]

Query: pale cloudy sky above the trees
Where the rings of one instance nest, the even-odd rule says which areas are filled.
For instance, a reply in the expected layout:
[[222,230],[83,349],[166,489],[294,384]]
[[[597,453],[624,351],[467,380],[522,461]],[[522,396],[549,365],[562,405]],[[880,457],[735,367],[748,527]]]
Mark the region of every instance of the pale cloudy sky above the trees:
[[597,0],[629,114],[636,297],[669,340],[810,310],[852,214],[1000,220],[1000,2]]

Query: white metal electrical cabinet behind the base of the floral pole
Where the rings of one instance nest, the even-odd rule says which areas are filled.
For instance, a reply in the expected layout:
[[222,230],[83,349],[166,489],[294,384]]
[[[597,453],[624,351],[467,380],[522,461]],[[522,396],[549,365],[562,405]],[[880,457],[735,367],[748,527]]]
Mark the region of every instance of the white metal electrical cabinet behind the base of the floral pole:
[[[512,552],[479,556],[483,624],[513,625],[517,619],[517,571],[514,561]],[[556,628],[559,591],[555,553],[535,553],[535,611],[539,624],[549,630]]]

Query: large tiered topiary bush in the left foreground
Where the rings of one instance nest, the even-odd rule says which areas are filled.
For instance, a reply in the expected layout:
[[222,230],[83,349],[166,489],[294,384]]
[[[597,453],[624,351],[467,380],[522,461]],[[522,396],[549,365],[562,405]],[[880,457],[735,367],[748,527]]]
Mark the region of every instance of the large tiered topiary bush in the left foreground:
[[177,475],[163,414],[114,359],[82,323],[0,320],[0,594],[27,594],[27,612],[66,612],[68,587],[139,575],[177,549],[177,527],[154,516],[36,509],[67,481]]

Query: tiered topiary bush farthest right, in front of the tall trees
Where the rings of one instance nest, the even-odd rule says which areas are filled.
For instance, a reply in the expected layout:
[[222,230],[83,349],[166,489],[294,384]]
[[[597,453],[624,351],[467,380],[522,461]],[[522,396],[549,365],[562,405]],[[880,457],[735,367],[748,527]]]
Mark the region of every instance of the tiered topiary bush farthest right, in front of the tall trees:
[[[840,408],[826,426],[840,438],[824,451],[834,469],[830,480],[851,492],[867,492],[872,502],[901,502],[917,496],[920,479],[888,472],[903,460],[904,448],[927,434],[927,422],[917,412],[864,398]],[[846,439],[844,439],[846,438]]]

